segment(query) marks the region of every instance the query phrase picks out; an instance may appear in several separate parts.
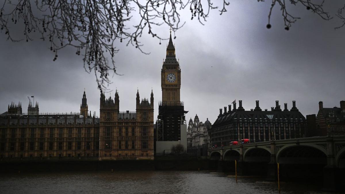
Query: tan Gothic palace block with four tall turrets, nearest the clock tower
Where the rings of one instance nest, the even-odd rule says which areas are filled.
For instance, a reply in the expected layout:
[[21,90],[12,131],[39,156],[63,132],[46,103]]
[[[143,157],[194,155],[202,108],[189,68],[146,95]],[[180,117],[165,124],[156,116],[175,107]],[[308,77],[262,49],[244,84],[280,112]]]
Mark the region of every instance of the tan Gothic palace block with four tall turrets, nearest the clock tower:
[[119,95],[115,99],[100,97],[100,159],[153,159],[154,98],[140,102],[137,91],[136,111],[119,111]]

